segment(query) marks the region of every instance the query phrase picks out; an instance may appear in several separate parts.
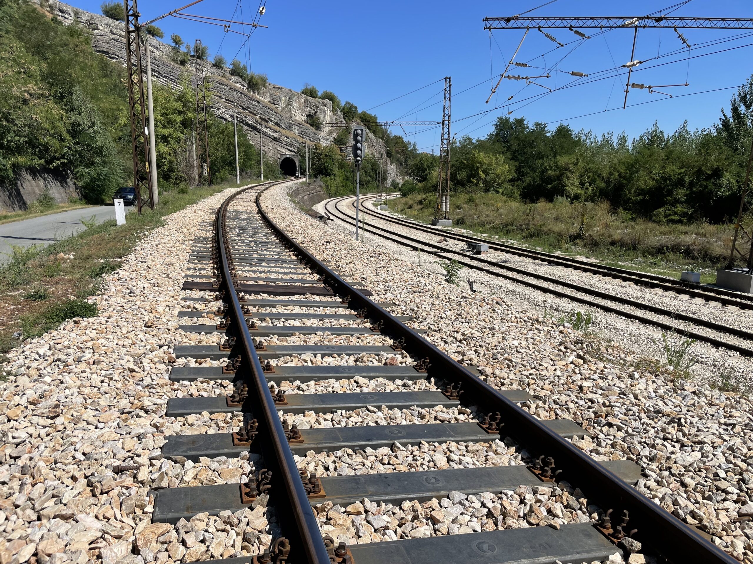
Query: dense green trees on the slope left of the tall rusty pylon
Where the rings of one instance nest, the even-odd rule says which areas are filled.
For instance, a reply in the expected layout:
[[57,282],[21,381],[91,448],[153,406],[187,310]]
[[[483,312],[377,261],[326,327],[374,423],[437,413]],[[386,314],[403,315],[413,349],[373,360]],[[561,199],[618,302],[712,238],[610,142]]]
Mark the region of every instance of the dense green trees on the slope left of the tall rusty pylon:
[[0,180],[47,168],[72,173],[87,201],[107,199],[123,180],[123,69],[28,2],[0,2],[0,37]]

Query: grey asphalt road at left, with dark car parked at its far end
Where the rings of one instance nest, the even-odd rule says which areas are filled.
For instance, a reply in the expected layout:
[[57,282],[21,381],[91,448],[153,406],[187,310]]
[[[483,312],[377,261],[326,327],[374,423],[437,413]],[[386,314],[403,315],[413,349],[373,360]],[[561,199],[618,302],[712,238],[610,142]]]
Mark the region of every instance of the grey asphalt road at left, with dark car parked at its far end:
[[[126,212],[132,209],[133,206],[130,206],[126,208]],[[81,223],[81,218],[88,220],[92,216],[96,217],[97,223],[114,219],[115,208],[111,205],[100,205],[0,225],[0,262],[5,262],[13,253],[13,245],[46,247],[50,243],[86,229]]]

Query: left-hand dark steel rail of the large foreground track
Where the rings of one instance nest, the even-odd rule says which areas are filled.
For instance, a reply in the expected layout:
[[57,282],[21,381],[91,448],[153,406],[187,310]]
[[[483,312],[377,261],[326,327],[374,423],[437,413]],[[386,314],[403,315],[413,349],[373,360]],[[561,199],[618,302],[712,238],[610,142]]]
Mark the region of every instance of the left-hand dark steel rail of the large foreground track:
[[[279,182],[271,185],[276,183]],[[319,521],[309,503],[293,453],[285,438],[285,429],[282,428],[282,421],[277,414],[272,393],[264,378],[264,369],[259,362],[252,335],[246,326],[245,316],[230,274],[228,257],[230,241],[225,230],[227,208],[236,196],[256,187],[258,186],[250,186],[231,195],[218,208],[215,217],[215,236],[220,261],[218,270],[220,280],[218,281],[221,290],[224,291],[227,314],[230,314],[230,327],[227,329],[227,334],[236,337],[234,347],[236,350],[231,351],[230,356],[239,353],[243,359],[239,374],[248,384],[248,399],[243,406],[243,411],[253,413],[255,419],[258,420],[260,436],[254,444],[261,446],[264,463],[267,469],[272,471],[270,493],[275,498],[277,517],[280,520],[282,532],[287,535],[286,538],[291,543],[294,561],[330,564],[330,558],[322,540],[322,532],[319,529]]]

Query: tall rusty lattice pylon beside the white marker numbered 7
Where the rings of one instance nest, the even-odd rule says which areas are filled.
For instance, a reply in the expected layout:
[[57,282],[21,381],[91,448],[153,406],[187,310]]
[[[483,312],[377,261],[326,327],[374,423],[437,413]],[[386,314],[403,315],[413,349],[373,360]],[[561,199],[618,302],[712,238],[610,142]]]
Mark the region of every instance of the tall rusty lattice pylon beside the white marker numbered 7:
[[136,190],[136,209],[141,214],[144,206],[154,209],[148,141],[148,135],[152,132],[149,132],[146,120],[139,10],[136,0],[123,0],[123,8],[126,11],[126,71],[133,148],[133,188]]

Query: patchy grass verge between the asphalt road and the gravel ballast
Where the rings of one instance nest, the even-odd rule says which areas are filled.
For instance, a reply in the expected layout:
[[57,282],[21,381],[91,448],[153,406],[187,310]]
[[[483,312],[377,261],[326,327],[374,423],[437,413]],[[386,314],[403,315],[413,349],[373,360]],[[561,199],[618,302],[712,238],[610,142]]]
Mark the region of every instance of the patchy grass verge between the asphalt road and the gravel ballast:
[[99,291],[102,276],[117,270],[139,239],[163,225],[167,215],[233,186],[166,191],[154,212],[146,208],[141,217],[128,214],[123,226],[108,220],[42,249],[15,250],[0,267],[0,355],[67,319],[96,315],[86,298]]

